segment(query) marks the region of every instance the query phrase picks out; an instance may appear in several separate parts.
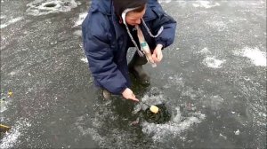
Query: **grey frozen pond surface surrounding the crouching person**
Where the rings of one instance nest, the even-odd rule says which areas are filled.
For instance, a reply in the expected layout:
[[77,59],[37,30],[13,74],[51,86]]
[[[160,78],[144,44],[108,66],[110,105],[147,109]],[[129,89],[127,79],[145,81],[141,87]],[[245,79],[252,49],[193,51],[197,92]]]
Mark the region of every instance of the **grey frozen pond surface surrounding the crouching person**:
[[[134,83],[146,108],[93,87],[80,24],[90,1],[1,1],[0,148],[266,148],[266,2],[160,1],[178,21],[152,82]],[[129,51],[129,58],[133,51]]]

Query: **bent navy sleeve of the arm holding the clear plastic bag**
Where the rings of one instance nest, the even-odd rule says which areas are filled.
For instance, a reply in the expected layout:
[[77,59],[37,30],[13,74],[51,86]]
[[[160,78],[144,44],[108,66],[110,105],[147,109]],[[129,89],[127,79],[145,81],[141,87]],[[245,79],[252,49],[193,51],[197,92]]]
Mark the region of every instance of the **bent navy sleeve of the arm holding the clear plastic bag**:
[[162,33],[156,38],[156,43],[160,43],[166,48],[174,43],[176,21],[163,11],[161,5],[158,4],[158,0],[150,0],[149,5],[151,10],[157,15],[157,19],[153,20],[152,30],[157,33],[160,27],[164,27]]

